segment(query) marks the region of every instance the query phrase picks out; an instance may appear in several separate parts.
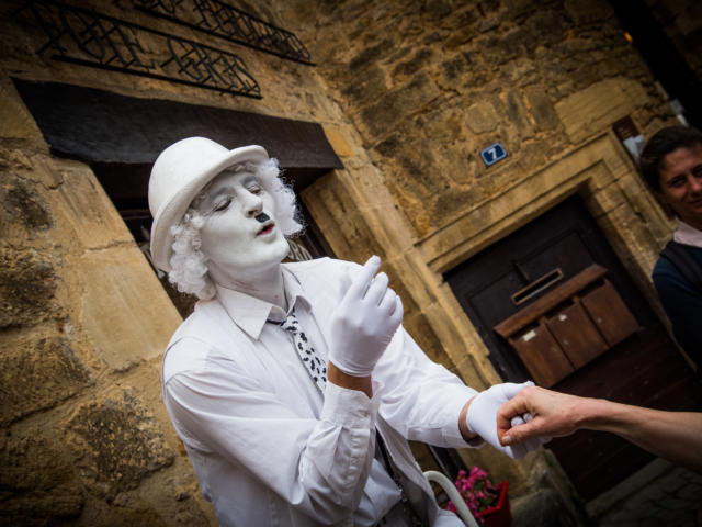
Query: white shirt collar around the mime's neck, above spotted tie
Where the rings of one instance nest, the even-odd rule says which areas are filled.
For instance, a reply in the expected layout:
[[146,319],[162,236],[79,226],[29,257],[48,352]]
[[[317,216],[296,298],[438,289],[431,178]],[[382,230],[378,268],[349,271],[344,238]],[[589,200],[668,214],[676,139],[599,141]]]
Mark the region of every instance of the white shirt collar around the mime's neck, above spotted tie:
[[283,287],[287,295],[287,313],[279,306],[271,304],[250,294],[242,293],[235,289],[227,289],[215,284],[217,299],[226,310],[234,323],[239,326],[249,337],[258,340],[263,325],[268,321],[283,322],[298,303],[304,303],[309,307],[309,301],[305,298],[303,288],[297,277],[282,266]]

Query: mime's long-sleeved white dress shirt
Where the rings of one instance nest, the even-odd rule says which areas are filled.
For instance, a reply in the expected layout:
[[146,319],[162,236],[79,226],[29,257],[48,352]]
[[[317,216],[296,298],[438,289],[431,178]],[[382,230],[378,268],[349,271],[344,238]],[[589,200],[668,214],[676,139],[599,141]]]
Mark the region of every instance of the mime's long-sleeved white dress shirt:
[[[324,360],[330,315],[354,266],[328,258],[283,265],[290,309]],[[466,447],[458,414],[475,390],[400,329],[373,372],[373,399],[332,383],[322,396],[291,335],[267,323],[285,315],[217,288],[163,358],[166,406],[220,525],[374,525],[399,496],[374,458],[376,428],[427,522],[462,525],[439,512],[406,439]]]

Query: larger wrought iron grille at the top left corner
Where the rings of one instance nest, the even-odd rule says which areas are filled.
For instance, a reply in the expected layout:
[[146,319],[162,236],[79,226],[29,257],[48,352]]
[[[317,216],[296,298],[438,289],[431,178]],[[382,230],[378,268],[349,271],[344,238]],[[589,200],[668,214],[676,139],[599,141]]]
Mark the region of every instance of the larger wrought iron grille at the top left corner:
[[29,0],[14,14],[25,11],[47,38],[37,55],[261,99],[258,82],[233,53],[53,0]]

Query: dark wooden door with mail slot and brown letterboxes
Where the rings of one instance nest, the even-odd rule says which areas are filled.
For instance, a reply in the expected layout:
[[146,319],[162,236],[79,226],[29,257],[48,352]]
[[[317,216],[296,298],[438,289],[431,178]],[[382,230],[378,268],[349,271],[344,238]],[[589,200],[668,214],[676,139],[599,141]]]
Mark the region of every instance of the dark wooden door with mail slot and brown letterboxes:
[[[445,279],[505,381],[537,377],[554,390],[576,395],[702,410],[702,390],[691,368],[579,197],[488,247]],[[602,305],[614,307],[600,316]],[[548,371],[539,372],[540,366]],[[547,448],[584,498],[653,459],[613,435],[595,431],[554,439]]]

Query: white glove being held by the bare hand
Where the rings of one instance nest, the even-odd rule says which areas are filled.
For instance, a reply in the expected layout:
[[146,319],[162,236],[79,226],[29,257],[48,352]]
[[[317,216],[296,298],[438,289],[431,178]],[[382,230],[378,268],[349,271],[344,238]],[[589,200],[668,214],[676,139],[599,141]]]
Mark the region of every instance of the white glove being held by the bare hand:
[[[479,435],[485,441],[512,459],[522,459],[528,452],[539,448],[542,441],[536,438],[526,439],[509,447],[500,445],[497,438],[497,411],[502,404],[517,395],[522,388],[533,385],[534,383],[531,381],[521,384],[506,382],[503,384],[495,384],[478,393],[471,402],[465,418],[468,430]],[[522,417],[513,417],[511,424],[512,426],[523,425],[531,419],[532,416],[530,414],[524,414]]]

